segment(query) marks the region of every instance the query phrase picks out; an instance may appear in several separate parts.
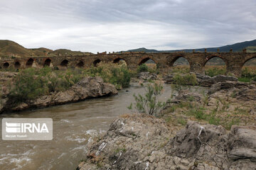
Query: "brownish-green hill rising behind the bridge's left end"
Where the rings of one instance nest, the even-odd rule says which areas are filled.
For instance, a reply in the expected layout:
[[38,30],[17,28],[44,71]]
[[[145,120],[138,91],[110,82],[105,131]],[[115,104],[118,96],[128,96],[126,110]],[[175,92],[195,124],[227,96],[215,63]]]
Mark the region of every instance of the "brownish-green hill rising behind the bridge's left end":
[[11,40],[0,40],[0,57],[29,57],[55,55],[90,55],[90,52],[72,51],[67,49],[50,50],[45,47],[28,49]]

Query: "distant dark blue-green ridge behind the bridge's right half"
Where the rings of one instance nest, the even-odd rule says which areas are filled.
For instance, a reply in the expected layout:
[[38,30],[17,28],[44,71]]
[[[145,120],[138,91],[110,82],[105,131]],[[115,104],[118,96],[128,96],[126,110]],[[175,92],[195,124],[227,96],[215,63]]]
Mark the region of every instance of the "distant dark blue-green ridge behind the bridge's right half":
[[[207,47],[208,52],[217,52],[220,49],[220,52],[229,52],[230,49],[233,49],[234,52],[242,52],[243,49],[247,48],[248,52],[256,52],[256,40],[245,41],[245,42],[238,42],[233,45],[225,45],[222,47]],[[177,51],[184,51],[184,52],[192,52],[196,50],[198,52],[204,52],[205,48],[198,48],[198,49],[184,49],[184,50],[149,50],[144,47],[134,49],[134,50],[127,50],[128,52],[177,52]]]

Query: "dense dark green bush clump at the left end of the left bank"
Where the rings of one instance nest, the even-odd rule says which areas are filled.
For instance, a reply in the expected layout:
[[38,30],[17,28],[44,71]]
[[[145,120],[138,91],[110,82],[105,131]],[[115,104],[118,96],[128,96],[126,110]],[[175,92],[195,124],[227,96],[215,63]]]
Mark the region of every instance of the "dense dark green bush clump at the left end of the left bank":
[[9,98],[17,103],[33,100],[53,91],[65,91],[78,83],[82,77],[85,77],[85,72],[75,69],[65,71],[53,70],[50,67],[22,69],[10,86]]

